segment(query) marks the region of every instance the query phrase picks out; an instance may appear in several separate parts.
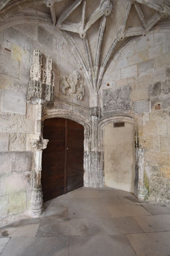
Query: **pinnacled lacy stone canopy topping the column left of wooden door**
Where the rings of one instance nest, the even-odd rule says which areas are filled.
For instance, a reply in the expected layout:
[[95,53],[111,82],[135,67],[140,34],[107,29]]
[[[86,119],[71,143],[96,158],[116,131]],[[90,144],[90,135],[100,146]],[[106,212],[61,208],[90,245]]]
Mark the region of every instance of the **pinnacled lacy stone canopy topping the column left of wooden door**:
[[30,69],[28,103],[42,104],[54,101],[54,72],[52,58],[47,56],[46,69],[42,68],[43,54],[39,49],[33,51],[33,64]]

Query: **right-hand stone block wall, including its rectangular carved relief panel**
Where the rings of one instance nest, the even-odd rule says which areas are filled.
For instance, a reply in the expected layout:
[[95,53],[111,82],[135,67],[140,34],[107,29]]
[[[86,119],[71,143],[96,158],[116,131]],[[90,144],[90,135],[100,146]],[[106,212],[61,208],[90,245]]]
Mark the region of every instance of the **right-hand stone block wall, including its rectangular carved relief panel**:
[[120,50],[104,75],[101,94],[103,115],[135,113],[139,147],[145,150],[145,186],[151,199],[169,203],[169,30],[157,27],[135,39],[124,52]]

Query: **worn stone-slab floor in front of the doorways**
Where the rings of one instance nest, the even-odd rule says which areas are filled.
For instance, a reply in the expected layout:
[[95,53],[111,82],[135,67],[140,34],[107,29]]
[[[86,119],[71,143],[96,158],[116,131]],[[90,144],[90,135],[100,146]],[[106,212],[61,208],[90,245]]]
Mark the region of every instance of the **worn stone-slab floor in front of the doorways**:
[[41,218],[0,229],[1,256],[169,256],[170,206],[111,188],[80,188]]

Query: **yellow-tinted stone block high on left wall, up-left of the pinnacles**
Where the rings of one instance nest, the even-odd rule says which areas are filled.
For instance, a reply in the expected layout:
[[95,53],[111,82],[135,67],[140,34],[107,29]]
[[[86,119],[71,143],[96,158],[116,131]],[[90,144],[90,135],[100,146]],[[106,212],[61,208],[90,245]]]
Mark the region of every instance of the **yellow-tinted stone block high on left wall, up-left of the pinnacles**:
[[29,52],[19,45],[12,44],[11,58],[29,65]]

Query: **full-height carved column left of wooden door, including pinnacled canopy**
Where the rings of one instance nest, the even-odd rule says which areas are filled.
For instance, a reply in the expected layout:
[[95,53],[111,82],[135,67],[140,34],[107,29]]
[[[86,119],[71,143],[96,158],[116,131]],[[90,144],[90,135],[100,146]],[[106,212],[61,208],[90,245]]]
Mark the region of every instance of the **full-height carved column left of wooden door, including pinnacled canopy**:
[[43,210],[43,195],[41,190],[41,160],[43,149],[47,147],[48,139],[43,139],[42,116],[43,108],[48,102],[54,101],[54,72],[52,58],[47,56],[46,69],[43,69],[43,54],[39,49],[33,51],[33,64],[30,70],[30,81],[27,92],[27,103],[33,104],[33,119],[35,132],[32,135],[31,146],[34,151],[32,170],[31,215],[39,217]]

